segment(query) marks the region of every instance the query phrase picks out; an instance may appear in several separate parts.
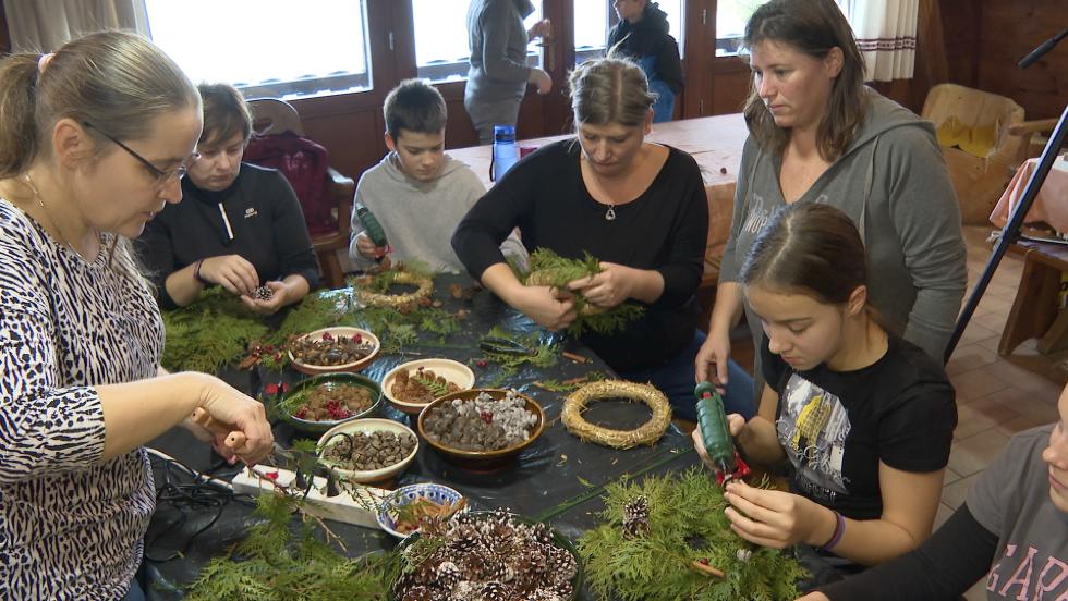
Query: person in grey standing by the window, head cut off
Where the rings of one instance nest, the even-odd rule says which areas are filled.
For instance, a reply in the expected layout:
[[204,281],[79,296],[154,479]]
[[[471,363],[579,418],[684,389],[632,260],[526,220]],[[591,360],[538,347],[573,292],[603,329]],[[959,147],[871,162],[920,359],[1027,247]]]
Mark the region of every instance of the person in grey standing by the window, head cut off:
[[526,65],[526,45],[534,37],[550,37],[553,26],[544,19],[527,32],[523,20],[534,12],[531,0],[472,0],[468,7],[468,46],[471,68],[463,93],[463,108],[478,131],[478,143],[494,140],[494,125],[515,125],[526,84],[545,95],[553,78],[544,70]]

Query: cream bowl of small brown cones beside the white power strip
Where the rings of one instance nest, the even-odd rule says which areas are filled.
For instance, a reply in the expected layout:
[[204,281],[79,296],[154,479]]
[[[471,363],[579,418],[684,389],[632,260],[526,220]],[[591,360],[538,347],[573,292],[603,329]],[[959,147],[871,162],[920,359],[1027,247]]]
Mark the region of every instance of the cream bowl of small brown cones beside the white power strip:
[[380,482],[396,477],[415,458],[418,439],[391,419],[354,419],[328,430],[318,443],[319,458],[350,482]]

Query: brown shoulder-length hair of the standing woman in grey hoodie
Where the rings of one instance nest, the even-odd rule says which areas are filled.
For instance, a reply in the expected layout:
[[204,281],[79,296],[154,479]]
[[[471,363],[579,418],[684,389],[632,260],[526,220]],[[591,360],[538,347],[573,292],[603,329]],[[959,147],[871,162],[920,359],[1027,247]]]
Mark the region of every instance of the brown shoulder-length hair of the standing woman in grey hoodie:
[[[820,156],[826,161],[837,159],[852,143],[867,109],[864,57],[857,48],[849,22],[834,0],[772,0],[750,17],[742,44],[753,48],[767,41],[784,44],[820,60],[833,48],[841,49],[841,71],[816,128]],[[790,133],[775,124],[752,79],[743,112],[749,131],[761,148],[780,156]]]

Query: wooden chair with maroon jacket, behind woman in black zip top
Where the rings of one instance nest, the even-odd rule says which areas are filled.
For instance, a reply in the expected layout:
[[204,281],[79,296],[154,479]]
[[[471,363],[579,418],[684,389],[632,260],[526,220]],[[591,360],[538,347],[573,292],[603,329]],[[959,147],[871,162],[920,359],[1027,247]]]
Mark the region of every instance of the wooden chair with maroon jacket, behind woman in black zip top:
[[[276,98],[255,98],[248,100],[248,107],[253,112],[254,131],[260,134],[292,132],[299,136],[304,136],[301,115],[289,102]],[[356,184],[351,177],[345,177],[333,168],[330,168],[328,176],[330,181],[327,187],[330,197],[337,200],[337,208],[332,212],[337,218],[338,229],[336,232],[313,235],[312,246],[319,259],[323,283],[331,289],[337,289],[344,285],[344,273],[341,271],[338,252],[349,248],[351,230],[349,219],[352,214],[352,197]]]

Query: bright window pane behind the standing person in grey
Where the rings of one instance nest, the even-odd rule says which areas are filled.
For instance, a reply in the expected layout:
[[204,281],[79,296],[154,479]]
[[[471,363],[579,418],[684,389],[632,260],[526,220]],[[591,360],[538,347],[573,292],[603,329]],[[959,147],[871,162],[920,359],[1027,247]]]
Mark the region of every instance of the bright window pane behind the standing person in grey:
[[[460,81],[468,76],[468,5],[471,0],[412,0],[415,21],[415,69],[432,82]],[[524,20],[530,29],[542,20],[542,8]],[[532,40],[526,62],[541,64],[538,44]]]

